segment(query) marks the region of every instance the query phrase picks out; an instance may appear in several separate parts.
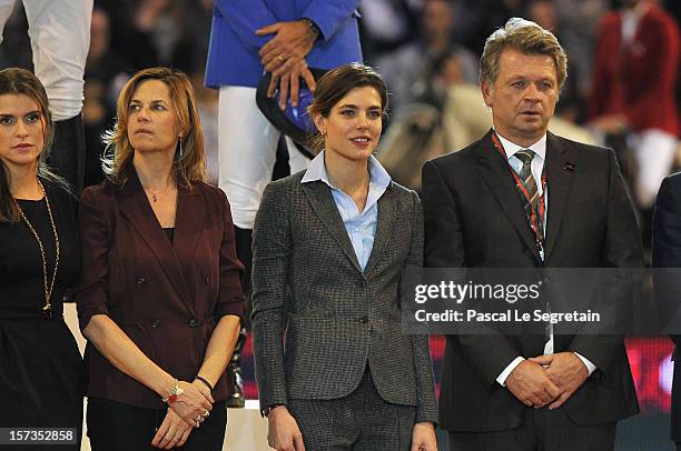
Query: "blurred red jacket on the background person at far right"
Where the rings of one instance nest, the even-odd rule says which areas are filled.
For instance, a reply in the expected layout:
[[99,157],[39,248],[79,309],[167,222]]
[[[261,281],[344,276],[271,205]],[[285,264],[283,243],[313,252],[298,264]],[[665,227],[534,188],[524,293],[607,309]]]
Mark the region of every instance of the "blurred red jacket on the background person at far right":
[[679,27],[650,6],[631,43],[622,47],[622,16],[603,17],[594,56],[589,117],[622,113],[635,131],[679,133],[674,90],[679,68]]

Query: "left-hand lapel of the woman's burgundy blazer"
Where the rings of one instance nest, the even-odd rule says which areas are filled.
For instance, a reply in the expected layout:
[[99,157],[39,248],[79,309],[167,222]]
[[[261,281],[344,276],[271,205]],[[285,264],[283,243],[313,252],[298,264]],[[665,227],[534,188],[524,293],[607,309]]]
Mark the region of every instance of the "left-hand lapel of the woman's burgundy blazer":
[[[190,303],[188,302],[190,299],[189,290],[185,283],[185,277],[176,250],[156,219],[156,214],[149,204],[145,190],[134,169],[128,171],[128,181],[120,191],[119,204],[121,214],[130,221],[132,228],[147,243],[151,252],[156,255],[160,267],[164,269],[168,280],[175,288],[179,299],[187,309],[193,312]],[[178,213],[180,212],[179,206],[177,211]],[[180,214],[177,214],[177,217],[180,217]]]

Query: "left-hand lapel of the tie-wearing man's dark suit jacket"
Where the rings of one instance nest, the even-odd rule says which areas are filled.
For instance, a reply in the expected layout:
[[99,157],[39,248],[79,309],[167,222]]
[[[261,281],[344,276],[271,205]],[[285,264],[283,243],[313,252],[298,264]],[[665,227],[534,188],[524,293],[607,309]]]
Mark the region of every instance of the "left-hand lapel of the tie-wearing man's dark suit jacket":
[[492,143],[492,132],[488,132],[476,149],[477,170],[487,186],[496,203],[501,207],[504,214],[509,218],[517,234],[525,245],[532,251],[535,258],[541,261],[539,251],[534,242],[534,234],[525,212],[521,198],[515,187],[515,180],[511,174],[511,169],[506,159]]

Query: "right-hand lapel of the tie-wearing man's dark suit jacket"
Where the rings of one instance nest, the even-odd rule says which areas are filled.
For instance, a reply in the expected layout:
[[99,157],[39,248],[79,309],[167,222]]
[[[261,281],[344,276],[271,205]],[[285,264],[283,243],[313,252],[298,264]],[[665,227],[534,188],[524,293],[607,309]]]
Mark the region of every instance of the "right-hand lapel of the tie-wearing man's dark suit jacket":
[[[546,260],[555,245],[568,206],[578,156],[553,133],[546,136],[546,184],[549,210],[546,211]],[[569,170],[568,168],[572,168]]]

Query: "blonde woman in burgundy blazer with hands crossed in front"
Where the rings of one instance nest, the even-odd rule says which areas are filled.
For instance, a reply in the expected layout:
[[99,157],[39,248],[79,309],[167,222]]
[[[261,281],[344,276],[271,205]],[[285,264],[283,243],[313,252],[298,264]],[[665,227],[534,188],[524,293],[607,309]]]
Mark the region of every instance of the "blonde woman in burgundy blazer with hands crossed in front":
[[203,182],[204,139],[184,73],[135,74],[117,118],[108,179],[80,206],[88,435],[93,450],[220,450],[225,368],[243,311],[229,204]]

